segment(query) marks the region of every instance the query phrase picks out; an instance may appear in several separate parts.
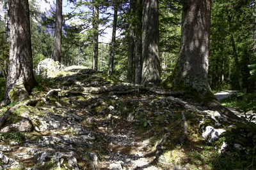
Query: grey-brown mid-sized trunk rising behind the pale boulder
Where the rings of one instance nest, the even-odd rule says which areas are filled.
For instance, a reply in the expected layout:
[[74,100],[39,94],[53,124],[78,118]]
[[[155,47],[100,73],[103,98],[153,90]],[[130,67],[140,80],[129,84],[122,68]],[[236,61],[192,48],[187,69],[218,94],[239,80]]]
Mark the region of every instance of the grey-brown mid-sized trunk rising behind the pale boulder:
[[56,0],[56,19],[54,31],[54,43],[52,49],[52,59],[61,61],[61,33],[62,32],[62,0]]

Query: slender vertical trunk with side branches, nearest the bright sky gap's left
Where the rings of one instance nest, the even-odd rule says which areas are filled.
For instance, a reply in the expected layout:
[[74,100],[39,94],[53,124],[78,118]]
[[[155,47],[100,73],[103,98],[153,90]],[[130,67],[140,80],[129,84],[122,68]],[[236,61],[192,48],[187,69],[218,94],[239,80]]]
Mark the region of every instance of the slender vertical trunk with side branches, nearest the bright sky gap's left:
[[93,6],[93,62],[92,69],[98,70],[98,55],[99,55],[99,2],[95,0]]

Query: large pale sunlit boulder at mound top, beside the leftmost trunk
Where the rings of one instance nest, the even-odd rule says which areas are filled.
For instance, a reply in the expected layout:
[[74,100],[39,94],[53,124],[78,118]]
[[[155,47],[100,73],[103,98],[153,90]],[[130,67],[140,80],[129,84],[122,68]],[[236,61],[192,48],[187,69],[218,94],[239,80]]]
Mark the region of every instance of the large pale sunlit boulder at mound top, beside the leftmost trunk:
[[52,59],[44,59],[40,61],[36,67],[36,75],[41,75],[44,77],[54,77],[59,71],[63,71],[65,66],[60,64],[58,61]]

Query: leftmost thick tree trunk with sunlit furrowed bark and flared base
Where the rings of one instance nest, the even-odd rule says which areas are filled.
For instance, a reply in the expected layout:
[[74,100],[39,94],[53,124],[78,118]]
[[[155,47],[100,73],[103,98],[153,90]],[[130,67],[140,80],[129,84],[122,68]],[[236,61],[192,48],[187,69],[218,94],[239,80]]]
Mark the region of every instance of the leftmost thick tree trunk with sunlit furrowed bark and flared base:
[[4,93],[6,101],[10,101],[9,92],[15,87],[21,86],[27,92],[31,92],[31,89],[35,86],[28,0],[9,1],[9,8],[10,57]]

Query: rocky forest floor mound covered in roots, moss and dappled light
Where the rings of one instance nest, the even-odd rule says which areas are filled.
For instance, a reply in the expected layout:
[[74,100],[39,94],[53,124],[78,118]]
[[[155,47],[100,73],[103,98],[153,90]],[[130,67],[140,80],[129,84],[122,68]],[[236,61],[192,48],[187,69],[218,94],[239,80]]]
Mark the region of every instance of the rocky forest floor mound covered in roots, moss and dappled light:
[[[90,69],[38,82],[29,100],[0,110],[15,107],[0,131],[0,169],[255,167],[250,122],[227,120],[179,93]],[[26,120],[31,131],[17,132]]]

